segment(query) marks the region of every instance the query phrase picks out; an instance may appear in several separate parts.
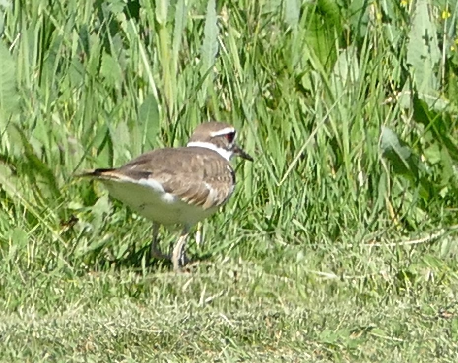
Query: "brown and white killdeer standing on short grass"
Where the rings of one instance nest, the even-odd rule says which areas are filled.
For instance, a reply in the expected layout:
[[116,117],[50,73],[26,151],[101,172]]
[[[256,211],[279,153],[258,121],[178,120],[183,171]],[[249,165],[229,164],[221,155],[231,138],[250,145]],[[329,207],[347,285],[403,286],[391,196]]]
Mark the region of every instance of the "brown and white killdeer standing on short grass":
[[95,169],[80,176],[100,180],[112,197],[153,222],[151,257],[170,258],[158,247],[159,226],[181,225],[171,256],[178,270],[186,263],[184,247],[190,228],[214,214],[234,191],[230,159],[238,155],[253,161],[235,138],[233,126],[210,121],[194,130],[186,147],[156,149],[119,168]]

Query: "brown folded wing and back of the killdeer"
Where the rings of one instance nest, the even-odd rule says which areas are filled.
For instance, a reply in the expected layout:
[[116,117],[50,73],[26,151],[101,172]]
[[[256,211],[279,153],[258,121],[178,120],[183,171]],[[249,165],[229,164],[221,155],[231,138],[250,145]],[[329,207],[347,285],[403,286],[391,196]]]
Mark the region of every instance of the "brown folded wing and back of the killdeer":
[[205,209],[224,204],[235,186],[235,173],[218,153],[202,148],[165,148],[140,155],[115,173],[152,178],[181,200]]

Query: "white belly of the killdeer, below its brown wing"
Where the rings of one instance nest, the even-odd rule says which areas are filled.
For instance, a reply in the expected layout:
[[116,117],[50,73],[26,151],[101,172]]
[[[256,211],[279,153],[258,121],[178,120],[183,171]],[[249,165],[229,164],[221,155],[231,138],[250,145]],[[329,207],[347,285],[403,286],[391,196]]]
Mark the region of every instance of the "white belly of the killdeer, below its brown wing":
[[163,225],[194,225],[218,208],[204,210],[188,205],[158,185],[142,185],[125,181],[102,180],[110,195],[129,205],[139,215]]

